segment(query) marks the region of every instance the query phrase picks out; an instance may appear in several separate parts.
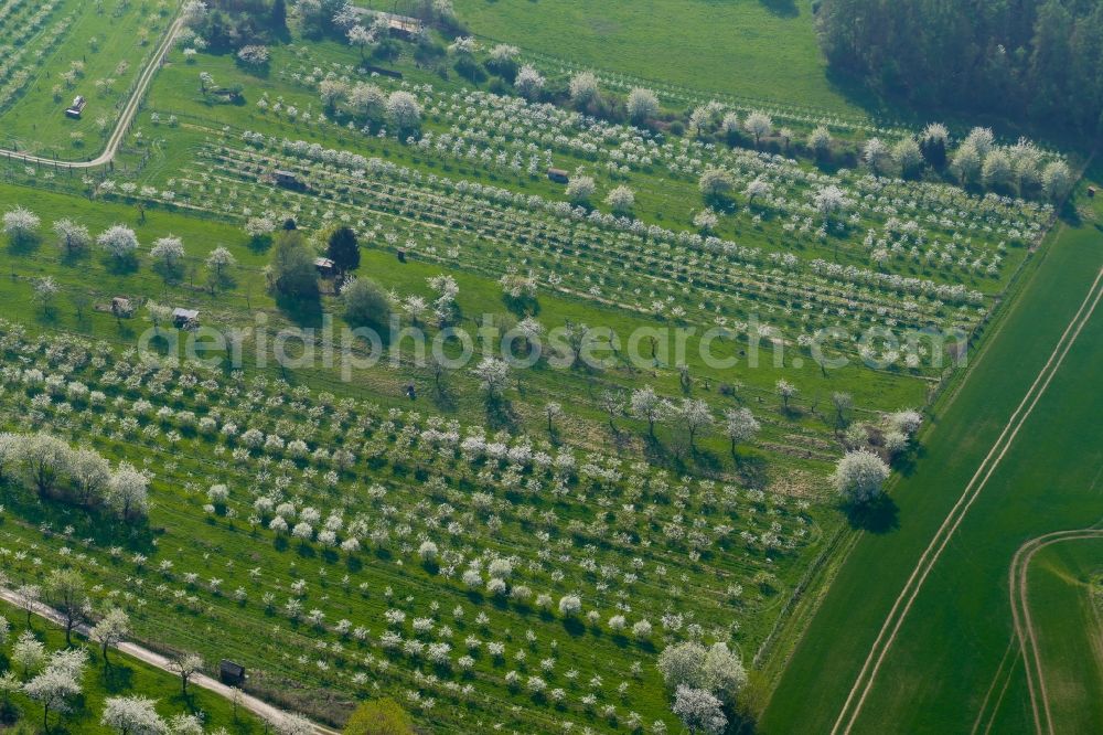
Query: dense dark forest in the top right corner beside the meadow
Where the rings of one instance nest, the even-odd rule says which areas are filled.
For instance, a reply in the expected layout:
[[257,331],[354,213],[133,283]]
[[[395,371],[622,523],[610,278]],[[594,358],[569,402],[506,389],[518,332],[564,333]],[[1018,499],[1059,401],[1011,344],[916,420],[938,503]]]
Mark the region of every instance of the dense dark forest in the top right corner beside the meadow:
[[831,64],[917,106],[1103,131],[1099,0],[822,0]]

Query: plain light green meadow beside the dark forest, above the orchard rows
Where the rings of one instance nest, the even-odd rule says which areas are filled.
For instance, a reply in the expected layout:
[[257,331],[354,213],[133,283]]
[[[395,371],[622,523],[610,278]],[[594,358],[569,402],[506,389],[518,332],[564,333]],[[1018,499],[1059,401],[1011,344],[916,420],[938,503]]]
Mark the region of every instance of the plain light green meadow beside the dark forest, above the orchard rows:
[[456,10],[476,35],[583,66],[860,111],[827,79],[806,0],[459,0]]

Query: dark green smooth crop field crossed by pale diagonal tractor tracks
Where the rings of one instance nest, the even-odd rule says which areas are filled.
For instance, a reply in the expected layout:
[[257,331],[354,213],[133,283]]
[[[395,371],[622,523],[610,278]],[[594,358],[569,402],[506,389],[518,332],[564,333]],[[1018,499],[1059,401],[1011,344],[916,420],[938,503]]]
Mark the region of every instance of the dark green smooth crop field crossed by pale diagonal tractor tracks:
[[[923,456],[892,490],[893,526],[863,534],[832,583],[769,703],[762,732],[831,729],[901,583],[1103,264],[1096,227],[1103,210],[1083,190],[1078,203],[1081,222],[1058,231],[960,394],[936,409]],[[1096,315],[934,567],[858,732],[967,731],[976,718],[993,716],[982,710],[1010,642],[1006,578],[1014,552],[1041,533],[1099,521],[1099,402],[1082,392],[1101,360],[1101,328]],[[1021,677],[1021,668],[1011,670]],[[1025,686],[1013,685],[1020,696],[1004,697],[1007,711],[996,713],[994,732],[1030,727],[1022,720],[1029,716],[1021,707]]]

